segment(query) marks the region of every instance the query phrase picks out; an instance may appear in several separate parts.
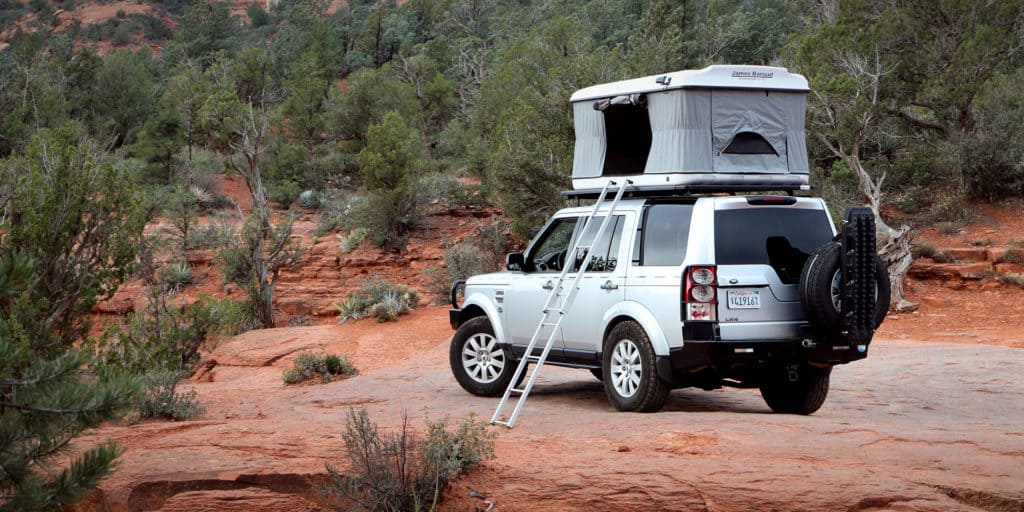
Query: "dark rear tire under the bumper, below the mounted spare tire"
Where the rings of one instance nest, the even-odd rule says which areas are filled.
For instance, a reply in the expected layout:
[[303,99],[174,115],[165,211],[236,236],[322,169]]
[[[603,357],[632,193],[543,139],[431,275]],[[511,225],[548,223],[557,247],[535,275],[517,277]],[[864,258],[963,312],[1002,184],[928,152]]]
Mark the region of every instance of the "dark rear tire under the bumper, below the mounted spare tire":
[[831,367],[802,365],[797,381],[792,382],[785,367],[774,367],[768,370],[761,384],[761,397],[778,414],[813,414],[828,396],[829,375]]

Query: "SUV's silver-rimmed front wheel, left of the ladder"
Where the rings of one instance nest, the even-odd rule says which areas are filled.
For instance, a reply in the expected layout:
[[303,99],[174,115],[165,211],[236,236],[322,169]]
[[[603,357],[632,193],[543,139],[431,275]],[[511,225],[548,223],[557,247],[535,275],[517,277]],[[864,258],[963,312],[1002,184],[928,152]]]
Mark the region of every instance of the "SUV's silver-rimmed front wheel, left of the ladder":
[[516,362],[510,350],[499,346],[486,316],[466,322],[452,337],[449,349],[452,374],[463,389],[475,395],[504,393],[515,373]]

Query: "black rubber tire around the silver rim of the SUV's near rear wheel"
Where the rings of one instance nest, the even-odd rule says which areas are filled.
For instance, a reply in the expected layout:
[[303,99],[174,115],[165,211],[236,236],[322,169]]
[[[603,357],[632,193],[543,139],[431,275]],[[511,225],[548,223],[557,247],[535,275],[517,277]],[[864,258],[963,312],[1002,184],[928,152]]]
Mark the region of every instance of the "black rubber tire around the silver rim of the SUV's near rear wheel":
[[[615,347],[623,342],[632,343],[636,348],[636,354],[640,368],[639,382],[635,392],[626,396],[616,389],[616,381],[612,376],[612,365]],[[626,345],[624,345],[626,346]],[[608,396],[608,401],[618,411],[632,411],[638,413],[654,413],[665,406],[665,400],[672,390],[669,385],[657,377],[656,356],[654,347],[650,344],[647,333],[639,324],[627,321],[616,325],[604,339],[604,365],[602,365],[602,375],[604,382],[604,393]],[[632,371],[632,367],[631,367]]]

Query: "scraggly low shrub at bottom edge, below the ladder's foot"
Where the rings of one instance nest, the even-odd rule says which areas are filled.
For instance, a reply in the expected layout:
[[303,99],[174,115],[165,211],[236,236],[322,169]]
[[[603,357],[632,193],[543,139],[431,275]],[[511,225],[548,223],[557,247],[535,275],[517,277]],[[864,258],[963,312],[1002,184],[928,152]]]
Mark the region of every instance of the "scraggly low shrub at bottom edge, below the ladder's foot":
[[421,438],[408,416],[399,430],[381,432],[360,408],[349,410],[342,437],[350,473],[328,465],[323,489],[339,509],[357,503],[369,510],[434,510],[452,480],[495,456],[494,432],[473,418],[427,422]]

